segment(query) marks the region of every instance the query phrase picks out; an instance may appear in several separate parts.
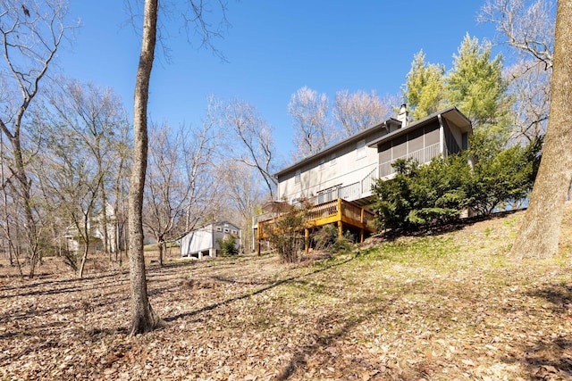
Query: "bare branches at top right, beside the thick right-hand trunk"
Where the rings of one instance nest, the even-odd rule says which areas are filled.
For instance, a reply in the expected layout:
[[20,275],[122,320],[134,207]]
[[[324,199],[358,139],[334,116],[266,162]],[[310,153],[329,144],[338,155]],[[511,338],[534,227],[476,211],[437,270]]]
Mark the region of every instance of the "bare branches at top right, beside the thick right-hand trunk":
[[501,43],[532,54],[552,67],[554,52],[554,2],[552,0],[488,0],[477,21],[492,22]]

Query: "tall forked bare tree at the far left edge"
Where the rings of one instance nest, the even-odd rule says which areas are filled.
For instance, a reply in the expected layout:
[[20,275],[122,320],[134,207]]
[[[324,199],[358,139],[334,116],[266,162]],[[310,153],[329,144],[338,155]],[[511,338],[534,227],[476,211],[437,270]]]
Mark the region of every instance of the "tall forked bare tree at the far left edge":
[[[10,142],[11,158],[6,163],[13,178],[21,214],[29,258],[29,276],[34,276],[39,255],[38,220],[32,203],[32,181],[22,136],[29,107],[38,95],[39,85],[63,42],[67,4],[64,1],[36,2],[31,0],[0,1],[0,37],[3,62],[0,68],[2,92],[6,97],[0,113],[0,130]],[[20,95],[16,95],[20,93]],[[5,189],[5,188],[4,188]]]

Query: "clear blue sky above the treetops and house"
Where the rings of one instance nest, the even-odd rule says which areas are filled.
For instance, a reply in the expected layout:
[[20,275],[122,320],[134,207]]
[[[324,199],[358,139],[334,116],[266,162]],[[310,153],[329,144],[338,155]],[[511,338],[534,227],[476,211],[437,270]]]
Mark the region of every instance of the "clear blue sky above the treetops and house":
[[[179,0],[183,1],[183,0]],[[400,94],[414,54],[444,63],[467,34],[492,39],[492,25],[477,24],[484,0],[229,0],[230,27],[214,40],[227,62],[198,41],[189,44],[175,17],[164,21],[167,60],[161,51],[151,78],[150,117],[172,125],[198,124],[206,97],[238,98],[257,107],[273,127],[277,149],[292,149],[290,96],[300,87],[325,93],[374,90]],[[66,76],[113,87],[132,109],[139,36],[122,0],[71,0],[80,18],[71,49],[60,54]],[[216,15],[212,20],[217,22]],[[127,24],[126,24],[127,23]],[[192,35],[190,37],[193,37]],[[498,51],[498,50],[497,50]]]

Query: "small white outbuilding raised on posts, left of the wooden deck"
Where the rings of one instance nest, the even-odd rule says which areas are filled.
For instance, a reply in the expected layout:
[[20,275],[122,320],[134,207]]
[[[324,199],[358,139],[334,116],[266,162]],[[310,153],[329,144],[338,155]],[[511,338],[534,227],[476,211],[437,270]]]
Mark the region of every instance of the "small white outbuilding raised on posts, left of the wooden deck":
[[221,249],[219,242],[235,239],[235,246],[240,248],[240,228],[228,221],[213,222],[204,227],[189,231],[181,236],[181,258],[216,257]]

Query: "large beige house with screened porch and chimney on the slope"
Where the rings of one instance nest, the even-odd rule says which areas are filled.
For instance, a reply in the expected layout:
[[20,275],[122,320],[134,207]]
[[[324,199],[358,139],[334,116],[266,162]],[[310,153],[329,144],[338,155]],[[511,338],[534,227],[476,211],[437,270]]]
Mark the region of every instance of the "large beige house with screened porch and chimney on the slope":
[[472,131],[456,107],[408,122],[402,105],[397,119],[366,128],[276,173],[277,199],[320,204],[341,198],[365,206],[373,201],[375,179],[395,176],[392,162],[411,157],[424,163],[466,150]]

